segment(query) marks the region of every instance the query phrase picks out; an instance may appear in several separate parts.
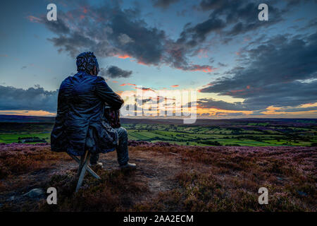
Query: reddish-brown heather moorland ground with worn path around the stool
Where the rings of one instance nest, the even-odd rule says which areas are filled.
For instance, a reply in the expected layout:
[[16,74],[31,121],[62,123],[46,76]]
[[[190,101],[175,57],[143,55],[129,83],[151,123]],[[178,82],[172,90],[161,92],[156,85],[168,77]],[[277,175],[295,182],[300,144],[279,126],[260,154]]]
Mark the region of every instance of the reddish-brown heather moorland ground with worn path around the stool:
[[[0,145],[0,211],[316,211],[316,147],[195,147],[130,141],[133,171],[101,155],[101,181],[47,144]],[[54,186],[57,205],[46,203]],[[268,205],[258,202],[268,189]]]

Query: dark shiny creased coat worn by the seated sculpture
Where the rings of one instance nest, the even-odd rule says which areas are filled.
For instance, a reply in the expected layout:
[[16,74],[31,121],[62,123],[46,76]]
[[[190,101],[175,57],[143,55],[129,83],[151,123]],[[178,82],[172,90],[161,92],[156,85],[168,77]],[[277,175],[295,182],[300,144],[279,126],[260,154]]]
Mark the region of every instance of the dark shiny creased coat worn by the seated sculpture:
[[118,133],[104,117],[105,102],[113,109],[123,105],[104,78],[83,71],[66,78],[58,91],[51,150],[73,155],[83,155],[85,149],[91,153],[114,150]]

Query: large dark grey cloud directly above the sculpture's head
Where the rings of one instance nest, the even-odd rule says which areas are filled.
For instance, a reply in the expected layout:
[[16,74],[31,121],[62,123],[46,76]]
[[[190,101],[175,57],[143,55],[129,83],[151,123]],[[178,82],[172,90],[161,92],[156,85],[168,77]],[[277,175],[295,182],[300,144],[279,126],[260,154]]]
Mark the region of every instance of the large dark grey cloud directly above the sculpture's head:
[[98,57],[126,55],[142,64],[160,63],[165,32],[150,28],[137,9],[122,10],[118,4],[85,7],[86,13],[81,7],[59,13],[56,23],[45,20],[46,28],[58,35],[49,39],[58,51],[75,57],[89,49]]

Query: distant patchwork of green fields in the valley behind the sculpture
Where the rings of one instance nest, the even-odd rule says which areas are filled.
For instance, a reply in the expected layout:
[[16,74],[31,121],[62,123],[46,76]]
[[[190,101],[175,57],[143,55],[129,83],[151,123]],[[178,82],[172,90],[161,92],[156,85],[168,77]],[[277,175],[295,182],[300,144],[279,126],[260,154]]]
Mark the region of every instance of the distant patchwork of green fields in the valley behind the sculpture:
[[[19,137],[37,137],[50,142],[50,131],[53,126],[15,124],[11,129],[10,124],[3,125],[0,128],[0,143],[16,143]],[[316,126],[306,128],[247,123],[223,127],[174,124],[123,124],[123,127],[128,130],[130,140],[164,141],[180,145],[311,146],[317,143]]]

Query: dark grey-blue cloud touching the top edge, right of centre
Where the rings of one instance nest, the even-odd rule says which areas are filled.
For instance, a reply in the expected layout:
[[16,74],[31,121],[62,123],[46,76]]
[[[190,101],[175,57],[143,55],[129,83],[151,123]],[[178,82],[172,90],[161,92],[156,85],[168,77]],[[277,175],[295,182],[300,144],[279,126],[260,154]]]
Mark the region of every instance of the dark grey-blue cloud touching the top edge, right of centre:
[[280,22],[282,13],[286,12],[269,4],[270,19],[263,22],[258,19],[259,4],[261,1],[201,1],[201,10],[211,11],[209,19],[197,25],[187,25],[178,42],[186,43],[187,47],[194,47],[206,40],[207,36],[220,34],[223,35],[222,42],[228,43],[234,36]]

